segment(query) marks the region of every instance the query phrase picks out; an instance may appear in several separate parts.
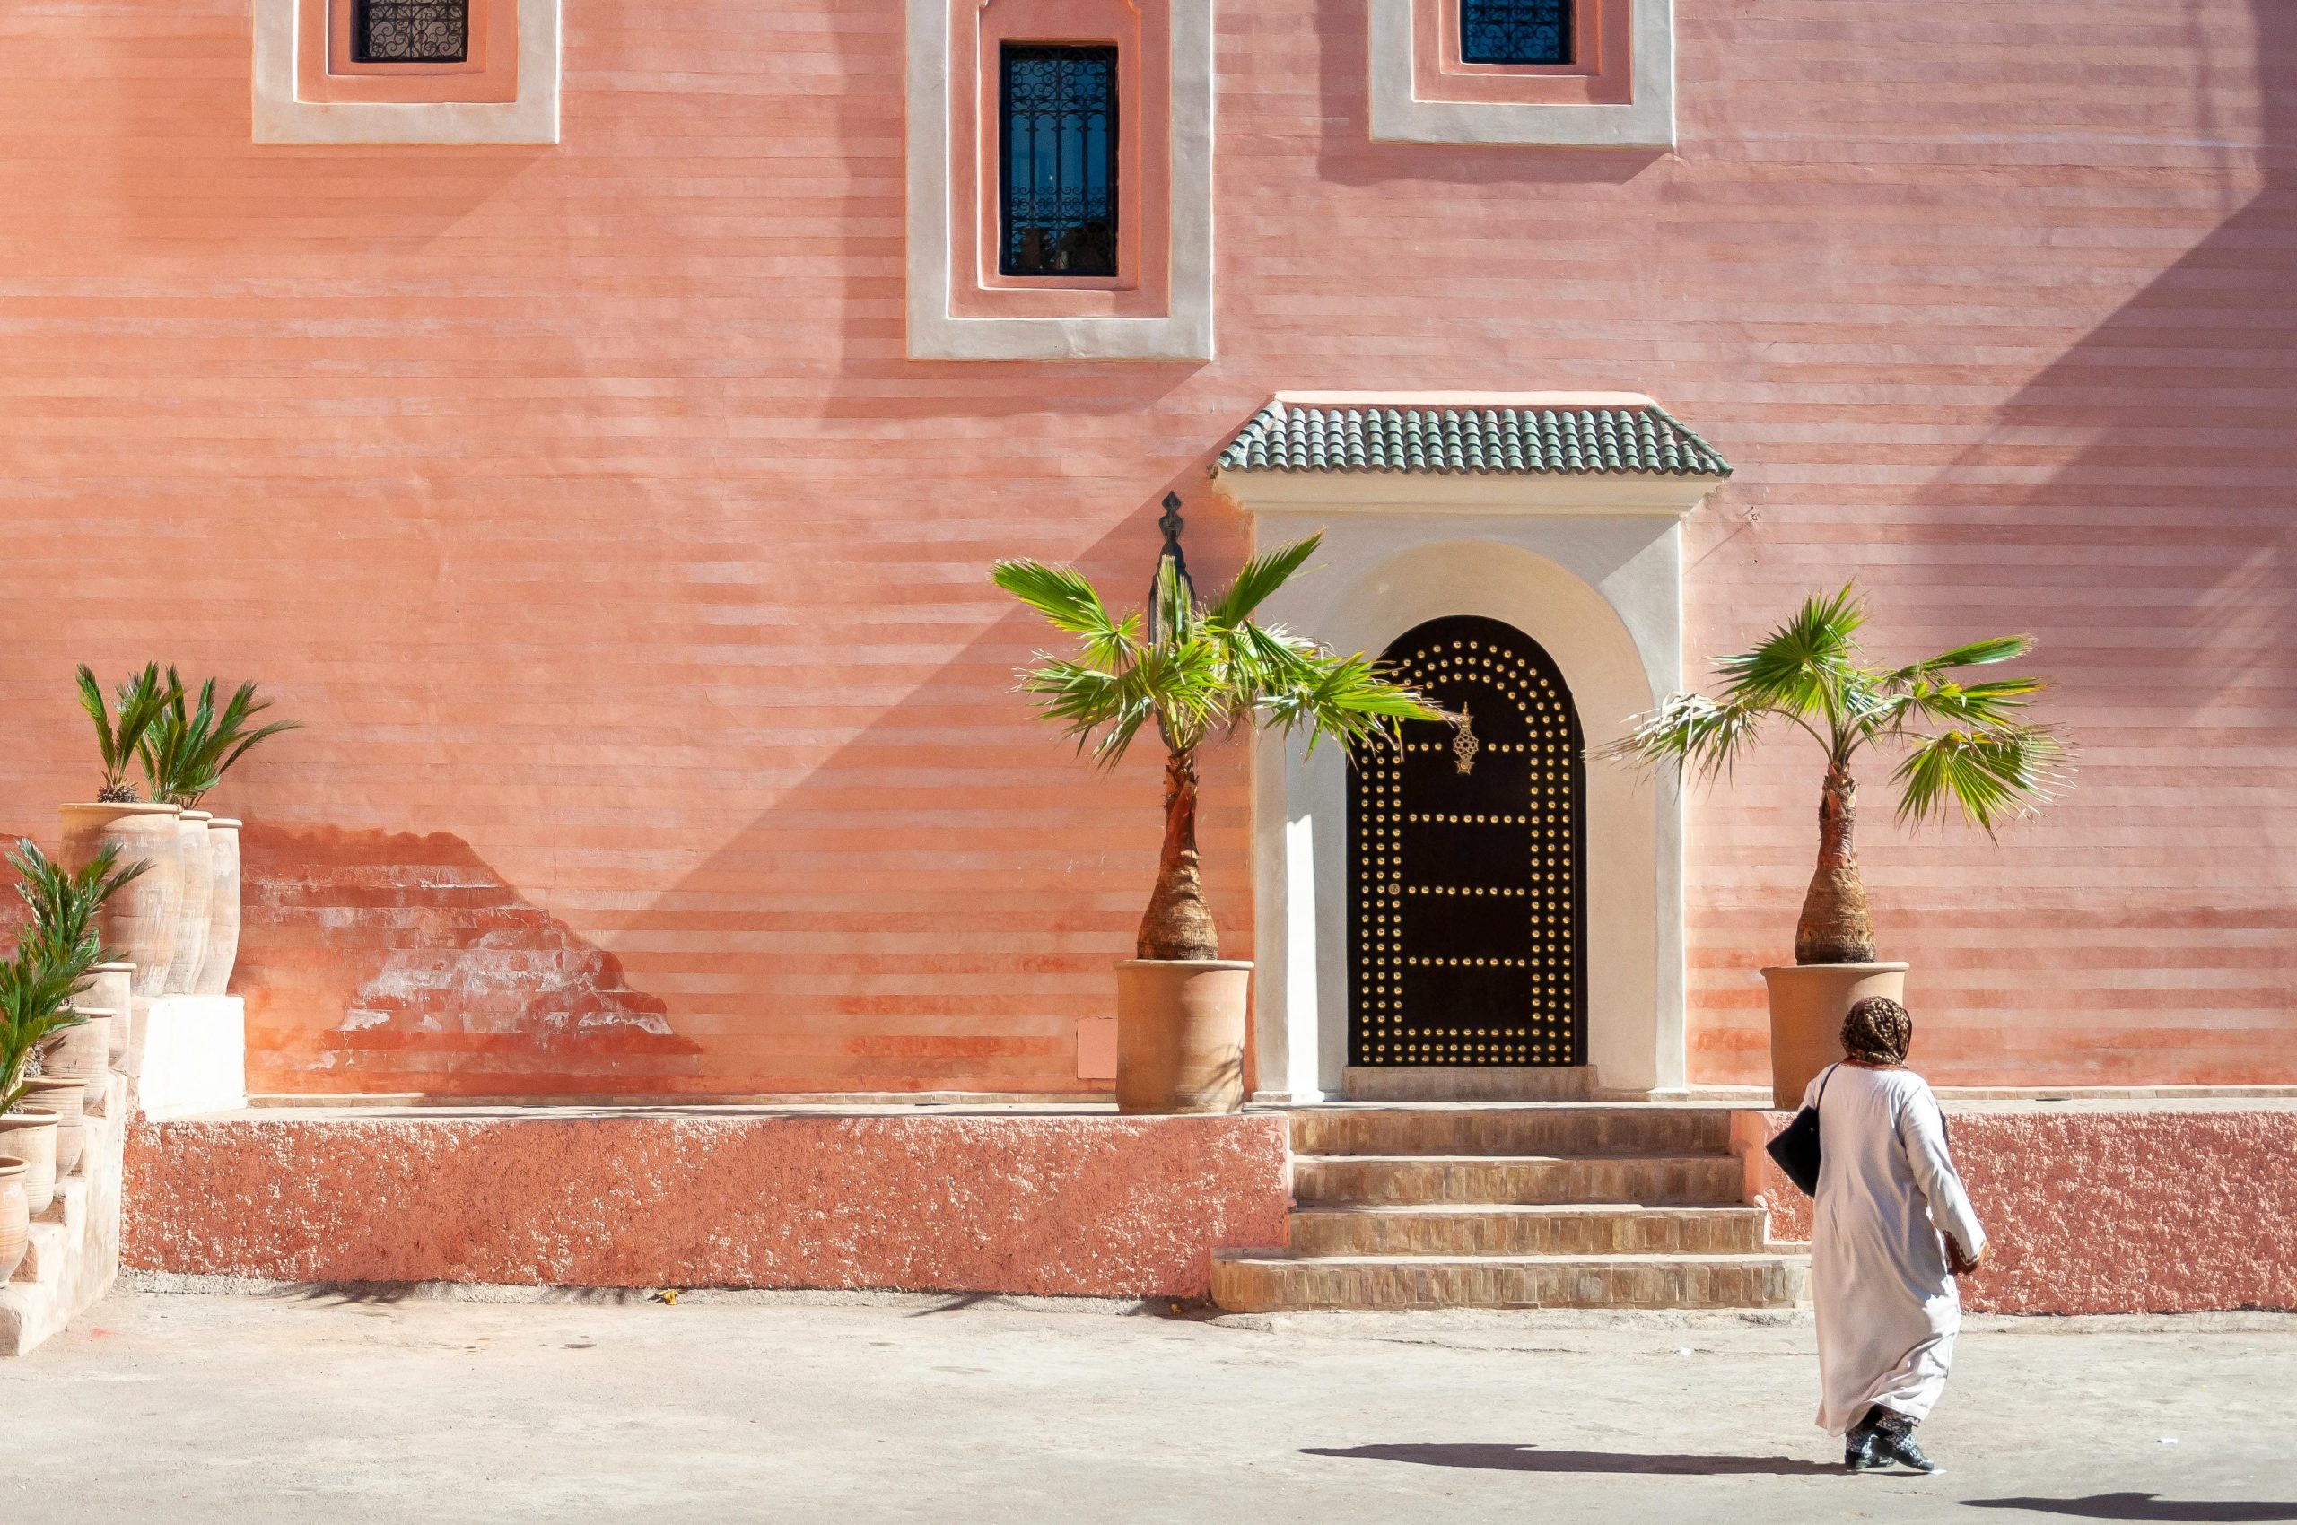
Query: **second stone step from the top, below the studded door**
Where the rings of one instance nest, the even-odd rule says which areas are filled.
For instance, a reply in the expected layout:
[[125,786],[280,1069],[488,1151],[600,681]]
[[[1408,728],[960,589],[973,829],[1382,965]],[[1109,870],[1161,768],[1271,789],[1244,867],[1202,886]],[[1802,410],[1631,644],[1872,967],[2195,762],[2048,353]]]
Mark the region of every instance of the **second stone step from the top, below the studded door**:
[[1737,1208],[1737,1155],[1296,1155],[1293,1201],[1390,1203],[1642,1203]]

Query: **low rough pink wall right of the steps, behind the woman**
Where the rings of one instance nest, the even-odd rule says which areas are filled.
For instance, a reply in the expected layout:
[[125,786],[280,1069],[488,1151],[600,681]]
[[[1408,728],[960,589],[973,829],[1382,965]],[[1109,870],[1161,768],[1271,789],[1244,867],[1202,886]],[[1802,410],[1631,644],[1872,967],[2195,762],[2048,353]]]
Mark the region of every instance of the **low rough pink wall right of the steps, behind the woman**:
[[[1991,1238],[1966,1307],[2297,1311],[2297,1107],[1948,1107],[1946,1128]],[[1810,1238],[1810,1199],[1762,1174],[1771,1233]]]

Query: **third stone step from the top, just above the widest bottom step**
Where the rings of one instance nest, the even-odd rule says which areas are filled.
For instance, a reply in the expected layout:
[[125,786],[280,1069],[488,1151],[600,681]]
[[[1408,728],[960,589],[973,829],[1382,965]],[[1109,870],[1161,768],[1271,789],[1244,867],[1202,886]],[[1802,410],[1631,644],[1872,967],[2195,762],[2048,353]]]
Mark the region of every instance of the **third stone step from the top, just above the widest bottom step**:
[[1302,1208],[1296,1256],[1762,1254],[1762,1208],[1638,1203]]

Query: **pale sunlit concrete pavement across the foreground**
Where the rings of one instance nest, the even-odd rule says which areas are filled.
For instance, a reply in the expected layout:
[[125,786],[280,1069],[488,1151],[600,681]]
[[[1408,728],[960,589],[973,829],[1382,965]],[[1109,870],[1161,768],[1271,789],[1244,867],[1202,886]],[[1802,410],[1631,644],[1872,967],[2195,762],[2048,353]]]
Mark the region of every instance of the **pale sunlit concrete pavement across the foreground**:
[[0,1362],[0,1520],[2297,1520],[2297,1318],[1973,1321],[1842,1477],[1808,1316],[117,1293]]

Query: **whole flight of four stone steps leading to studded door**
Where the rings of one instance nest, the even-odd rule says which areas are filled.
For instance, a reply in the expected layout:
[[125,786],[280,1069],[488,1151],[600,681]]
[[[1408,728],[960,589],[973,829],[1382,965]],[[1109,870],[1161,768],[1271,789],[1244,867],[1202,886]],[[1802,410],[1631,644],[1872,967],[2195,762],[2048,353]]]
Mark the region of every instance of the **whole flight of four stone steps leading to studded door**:
[[1727,1107],[1291,1114],[1291,1249],[1213,1261],[1229,1311],[1789,1309],[1808,1261],[1746,1206]]

